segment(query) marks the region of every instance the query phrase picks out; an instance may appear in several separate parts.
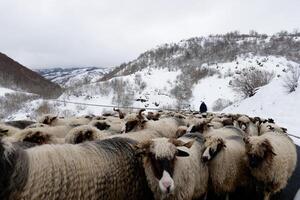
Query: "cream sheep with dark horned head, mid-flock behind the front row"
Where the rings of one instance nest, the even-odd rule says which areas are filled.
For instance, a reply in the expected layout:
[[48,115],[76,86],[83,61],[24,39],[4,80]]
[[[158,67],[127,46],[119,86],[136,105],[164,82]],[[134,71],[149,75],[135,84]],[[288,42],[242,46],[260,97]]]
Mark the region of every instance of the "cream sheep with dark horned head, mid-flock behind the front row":
[[179,126],[186,125],[184,119],[177,117],[162,118],[158,121],[147,120],[142,115],[143,111],[145,111],[145,109],[140,110],[138,114],[126,116],[124,119],[122,132],[128,133],[130,131],[151,129],[158,131],[164,137],[173,137]]

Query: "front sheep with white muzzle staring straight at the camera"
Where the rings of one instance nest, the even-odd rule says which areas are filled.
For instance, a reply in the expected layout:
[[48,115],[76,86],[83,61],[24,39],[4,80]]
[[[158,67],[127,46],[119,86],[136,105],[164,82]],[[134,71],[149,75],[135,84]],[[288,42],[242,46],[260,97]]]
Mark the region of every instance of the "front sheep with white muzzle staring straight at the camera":
[[189,137],[156,138],[137,145],[155,199],[205,197],[208,169],[200,159],[202,145],[201,139]]

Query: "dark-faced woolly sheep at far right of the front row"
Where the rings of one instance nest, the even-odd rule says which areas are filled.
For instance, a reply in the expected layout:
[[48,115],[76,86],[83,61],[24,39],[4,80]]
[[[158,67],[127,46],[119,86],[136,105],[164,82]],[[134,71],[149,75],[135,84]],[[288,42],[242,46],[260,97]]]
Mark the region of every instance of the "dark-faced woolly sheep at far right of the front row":
[[278,132],[245,137],[244,141],[251,174],[263,184],[264,199],[268,200],[287,185],[296,167],[295,144]]

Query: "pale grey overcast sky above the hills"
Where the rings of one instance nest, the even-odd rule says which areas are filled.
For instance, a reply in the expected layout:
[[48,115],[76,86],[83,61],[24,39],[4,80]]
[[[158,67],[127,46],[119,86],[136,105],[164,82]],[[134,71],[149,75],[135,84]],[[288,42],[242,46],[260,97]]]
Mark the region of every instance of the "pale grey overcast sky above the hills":
[[157,45],[300,28],[300,0],[0,0],[0,52],[29,68],[116,66]]

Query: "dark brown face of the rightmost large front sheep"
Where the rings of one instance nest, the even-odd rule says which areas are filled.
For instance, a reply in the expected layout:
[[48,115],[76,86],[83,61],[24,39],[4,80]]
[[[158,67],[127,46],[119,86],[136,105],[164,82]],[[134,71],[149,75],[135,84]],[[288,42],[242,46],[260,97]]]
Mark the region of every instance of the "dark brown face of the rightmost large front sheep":
[[270,163],[276,155],[268,139],[259,140],[254,136],[244,138],[244,142],[250,168],[258,168],[264,162]]

